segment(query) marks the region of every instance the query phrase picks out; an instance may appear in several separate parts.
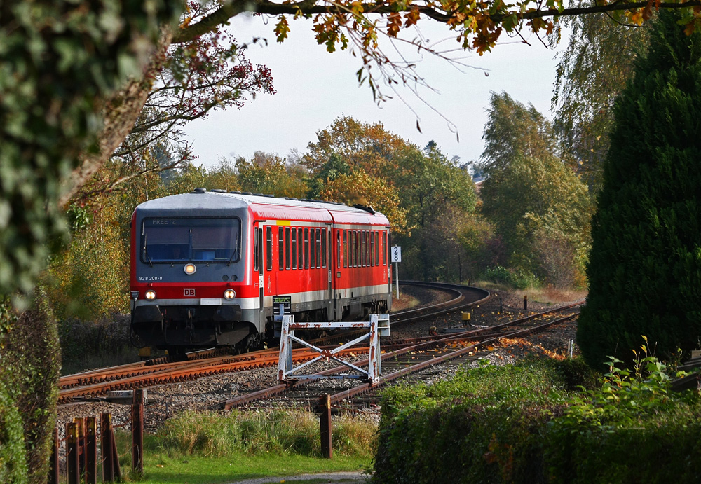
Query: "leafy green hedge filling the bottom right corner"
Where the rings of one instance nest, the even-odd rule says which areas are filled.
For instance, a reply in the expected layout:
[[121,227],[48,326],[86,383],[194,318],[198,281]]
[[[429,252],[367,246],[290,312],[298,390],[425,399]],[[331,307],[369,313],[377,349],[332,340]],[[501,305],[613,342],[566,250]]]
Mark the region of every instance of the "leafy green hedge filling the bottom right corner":
[[611,391],[611,380],[603,389],[573,391],[593,381],[580,361],[528,361],[389,389],[374,482],[655,483],[700,476],[698,396],[669,394],[668,383],[657,387],[649,378]]

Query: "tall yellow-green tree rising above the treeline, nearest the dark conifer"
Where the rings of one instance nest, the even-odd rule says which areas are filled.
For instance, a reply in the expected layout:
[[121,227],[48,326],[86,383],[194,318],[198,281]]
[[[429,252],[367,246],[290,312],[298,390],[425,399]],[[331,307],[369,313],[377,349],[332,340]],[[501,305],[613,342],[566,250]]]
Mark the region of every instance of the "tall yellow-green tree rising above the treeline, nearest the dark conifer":
[[482,211],[514,269],[583,284],[591,211],[587,186],[557,158],[550,123],[532,105],[493,94],[484,128]]

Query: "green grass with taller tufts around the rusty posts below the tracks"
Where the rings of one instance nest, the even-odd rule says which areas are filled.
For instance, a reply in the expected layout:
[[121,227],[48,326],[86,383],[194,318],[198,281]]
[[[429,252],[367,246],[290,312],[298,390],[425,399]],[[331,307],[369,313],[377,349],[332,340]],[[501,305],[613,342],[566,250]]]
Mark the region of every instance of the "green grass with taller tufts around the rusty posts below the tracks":
[[[319,420],[302,410],[222,415],[186,411],[144,437],[144,475],[131,472],[131,436],[116,434],[123,476],[134,483],[217,484],[369,469],[376,424],[334,417],[334,458],[320,457]],[[313,482],[310,480],[309,482]]]

